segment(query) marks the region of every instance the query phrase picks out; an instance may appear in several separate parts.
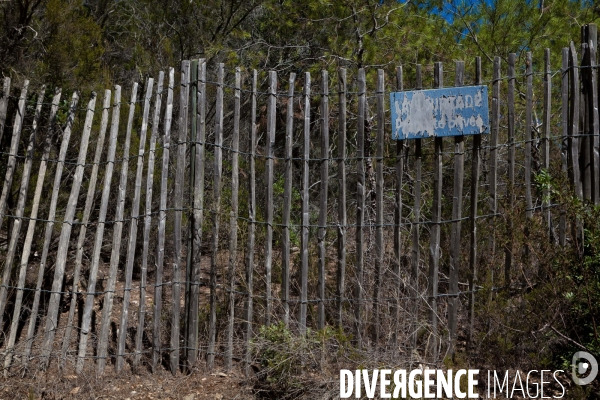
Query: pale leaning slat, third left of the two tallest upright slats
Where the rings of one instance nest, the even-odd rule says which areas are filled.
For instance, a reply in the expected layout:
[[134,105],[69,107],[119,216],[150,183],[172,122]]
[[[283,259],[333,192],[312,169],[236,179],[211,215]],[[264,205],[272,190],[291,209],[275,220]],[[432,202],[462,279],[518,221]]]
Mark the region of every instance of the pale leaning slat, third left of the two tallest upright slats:
[[152,88],[154,79],[149,78],[146,82],[146,94],[144,95],[144,110],[142,114],[142,126],[139,136],[139,149],[137,156],[137,170],[135,172],[135,186],[133,202],[131,204],[131,224],[129,225],[129,240],[127,243],[127,258],[125,261],[125,288],[123,291],[123,304],[121,308],[121,323],[117,336],[117,362],[116,372],[121,372],[125,362],[125,340],[127,339],[127,327],[129,319],[129,302],[131,300],[131,281],[133,278],[133,262],[135,260],[135,248],[137,244],[137,228],[140,216],[140,200],[142,197],[142,174],[144,171],[144,157],[146,154],[146,135],[148,133],[148,115],[150,114],[150,100],[152,99]]

